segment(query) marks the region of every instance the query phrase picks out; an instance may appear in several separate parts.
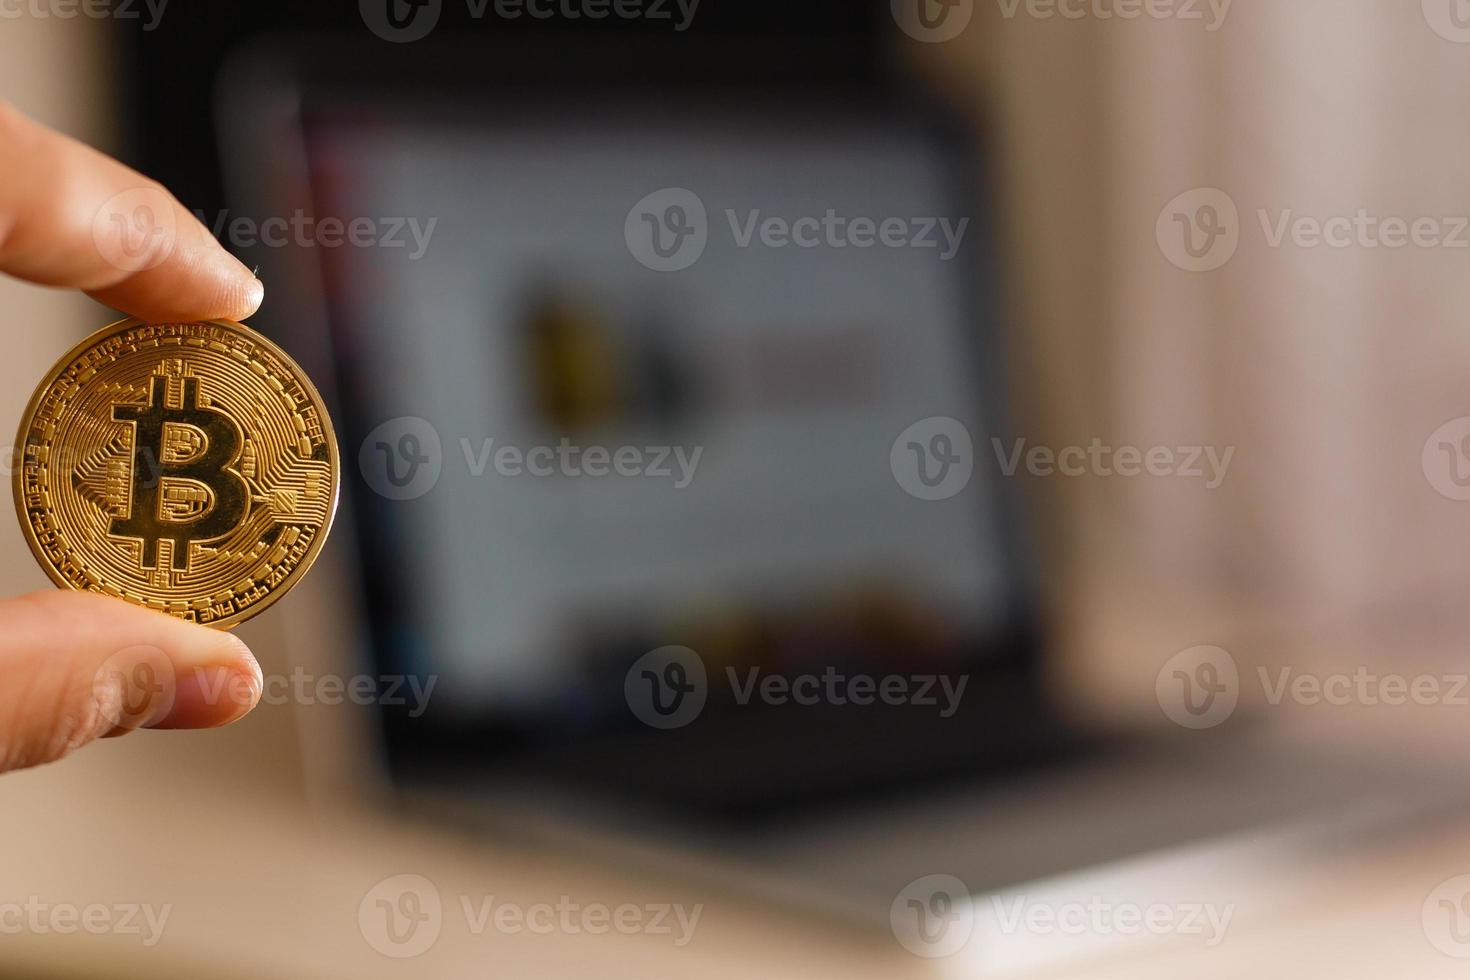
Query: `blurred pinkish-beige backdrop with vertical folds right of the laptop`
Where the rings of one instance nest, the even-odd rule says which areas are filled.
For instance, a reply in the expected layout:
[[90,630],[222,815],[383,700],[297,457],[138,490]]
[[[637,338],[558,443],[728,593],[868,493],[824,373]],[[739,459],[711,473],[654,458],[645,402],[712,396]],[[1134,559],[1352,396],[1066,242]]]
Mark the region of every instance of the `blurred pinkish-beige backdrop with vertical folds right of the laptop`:
[[[1454,657],[1467,513],[1420,457],[1470,403],[1464,247],[1274,247],[1263,213],[1272,229],[1466,213],[1467,48],[1420,4],[1372,0],[1236,0],[1217,32],[998,4],[976,19],[910,54],[998,123],[1023,433],[1236,447],[1214,491],[1029,482],[1079,702],[1147,701],[1163,660],[1205,642]],[[1239,210],[1211,272],[1155,238],[1195,188]]]

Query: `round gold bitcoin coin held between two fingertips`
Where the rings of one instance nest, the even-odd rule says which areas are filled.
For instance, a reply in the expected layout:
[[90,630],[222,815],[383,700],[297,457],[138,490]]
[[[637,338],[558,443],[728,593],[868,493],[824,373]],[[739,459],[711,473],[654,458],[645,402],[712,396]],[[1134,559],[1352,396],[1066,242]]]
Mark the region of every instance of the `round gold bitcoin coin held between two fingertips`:
[[300,582],[337,511],[322,397],[229,320],[93,334],[41,382],[16,447],[16,511],[53,582],[222,629]]

